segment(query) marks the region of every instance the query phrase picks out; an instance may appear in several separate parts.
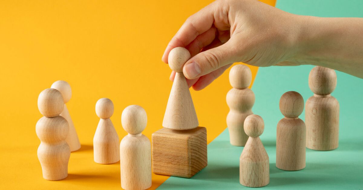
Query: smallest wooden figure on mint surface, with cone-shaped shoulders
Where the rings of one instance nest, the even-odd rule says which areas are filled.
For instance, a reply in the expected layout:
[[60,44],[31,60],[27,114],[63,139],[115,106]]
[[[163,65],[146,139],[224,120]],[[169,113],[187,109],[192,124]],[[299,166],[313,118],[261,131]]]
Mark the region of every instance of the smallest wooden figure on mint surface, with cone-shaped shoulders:
[[240,183],[246,187],[263,187],[270,182],[269,156],[259,137],[264,127],[260,116],[245,119],[244,129],[249,138],[240,157]]

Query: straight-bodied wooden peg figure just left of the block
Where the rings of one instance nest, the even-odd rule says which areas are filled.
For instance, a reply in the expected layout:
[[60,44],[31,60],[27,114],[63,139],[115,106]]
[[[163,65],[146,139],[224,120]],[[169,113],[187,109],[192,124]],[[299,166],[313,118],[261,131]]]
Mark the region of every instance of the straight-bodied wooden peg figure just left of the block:
[[130,105],[122,112],[123,129],[129,133],[120,143],[121,187],[148,189],[151,187],[151,144],[142,131],[147,124],[145,110]]

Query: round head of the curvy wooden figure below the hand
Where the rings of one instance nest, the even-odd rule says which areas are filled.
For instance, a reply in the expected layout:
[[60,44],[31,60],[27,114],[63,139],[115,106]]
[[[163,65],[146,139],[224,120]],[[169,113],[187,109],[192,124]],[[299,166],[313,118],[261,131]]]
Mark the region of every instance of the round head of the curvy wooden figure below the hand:
[[233,88],[248,88],[252,81],[251,69],[246,65],[234,65],[229,71],[229,83]]

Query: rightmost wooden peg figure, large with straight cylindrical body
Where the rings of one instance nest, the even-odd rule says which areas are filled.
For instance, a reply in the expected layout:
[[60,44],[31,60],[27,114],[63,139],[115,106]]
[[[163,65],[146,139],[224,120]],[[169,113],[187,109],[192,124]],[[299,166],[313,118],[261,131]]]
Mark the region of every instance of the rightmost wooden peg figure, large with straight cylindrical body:
[[333,69],[315,66],[309,74],[309,87],[314,92],[305,105],[306,147],[334,150],[339,139],[339,102],[330,93],[337,86]]

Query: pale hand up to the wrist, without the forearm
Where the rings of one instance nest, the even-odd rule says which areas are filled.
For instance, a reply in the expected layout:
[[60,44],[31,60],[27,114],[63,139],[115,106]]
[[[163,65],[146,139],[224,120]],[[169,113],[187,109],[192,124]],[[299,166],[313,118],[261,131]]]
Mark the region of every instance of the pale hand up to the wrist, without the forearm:
[[[301,16],[257,0],[217,0],[190,16],[169,42],[162,60],[175,47],[185,47],[192,58],[183,73],[189,87],[201,90],[233,64],[254,66],[299,65],[297,51]],[[173,71],[170,80],[174,80]]]

